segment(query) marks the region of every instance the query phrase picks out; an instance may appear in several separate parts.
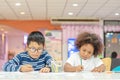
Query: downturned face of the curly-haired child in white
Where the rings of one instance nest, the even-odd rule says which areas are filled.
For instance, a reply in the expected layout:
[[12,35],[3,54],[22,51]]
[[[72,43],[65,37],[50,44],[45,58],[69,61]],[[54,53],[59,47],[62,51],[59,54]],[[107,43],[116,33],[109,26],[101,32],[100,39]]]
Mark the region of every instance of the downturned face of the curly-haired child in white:
[[80,47],[80,57],[84,60],[91,58],[94,52],[94,47],[91,44],[84,44]]

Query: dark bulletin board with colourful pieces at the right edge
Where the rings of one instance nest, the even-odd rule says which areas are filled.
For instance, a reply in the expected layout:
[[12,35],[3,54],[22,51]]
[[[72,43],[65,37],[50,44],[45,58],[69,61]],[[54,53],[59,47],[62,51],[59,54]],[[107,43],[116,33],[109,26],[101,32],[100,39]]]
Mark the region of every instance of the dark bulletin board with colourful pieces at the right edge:
[[112,52],[117,52],[120,58],[120,32],[105,33],[105,57],[111,57]]

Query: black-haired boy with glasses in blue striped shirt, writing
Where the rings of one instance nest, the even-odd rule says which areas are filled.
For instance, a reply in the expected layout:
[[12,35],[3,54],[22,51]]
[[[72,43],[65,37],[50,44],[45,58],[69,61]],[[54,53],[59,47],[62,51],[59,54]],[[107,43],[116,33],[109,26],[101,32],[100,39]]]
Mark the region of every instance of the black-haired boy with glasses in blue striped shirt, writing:
[[44,50],[44,44],[45,38],[41,32],[31,32],[27,39],[26,51],[6,62],[3,71],[50,72],[52,57]]

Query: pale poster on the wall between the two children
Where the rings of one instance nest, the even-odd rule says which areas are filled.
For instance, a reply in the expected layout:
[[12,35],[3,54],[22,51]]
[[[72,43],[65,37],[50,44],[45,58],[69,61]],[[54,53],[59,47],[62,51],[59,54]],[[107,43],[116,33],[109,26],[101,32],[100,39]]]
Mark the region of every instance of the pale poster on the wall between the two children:
[[62,39],[60,30],[45,30],[46,50],[56,61],[62,61]]

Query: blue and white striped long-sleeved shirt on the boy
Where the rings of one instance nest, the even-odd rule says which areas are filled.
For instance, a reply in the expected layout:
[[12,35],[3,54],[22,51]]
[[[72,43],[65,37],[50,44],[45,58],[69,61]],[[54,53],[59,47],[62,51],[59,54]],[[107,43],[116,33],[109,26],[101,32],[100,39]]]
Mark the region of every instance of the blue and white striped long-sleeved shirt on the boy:
[[3,65],[3,71],[19,71],[21,65],[30,64],[34,71],[39,71],[46,65],[50,67],[52,57],[47,51],[43,51],[38,59],[33,59],[29,56],[28,52],[17,54],[12,60],[9,60]]

